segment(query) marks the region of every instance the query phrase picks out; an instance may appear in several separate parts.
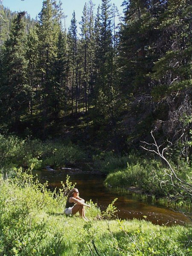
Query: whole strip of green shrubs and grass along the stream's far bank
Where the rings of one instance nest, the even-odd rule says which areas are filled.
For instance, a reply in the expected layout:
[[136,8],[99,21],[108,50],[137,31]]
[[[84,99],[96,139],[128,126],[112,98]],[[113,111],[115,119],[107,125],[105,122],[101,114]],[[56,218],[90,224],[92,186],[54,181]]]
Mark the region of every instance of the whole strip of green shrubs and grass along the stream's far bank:
[[[192,206],[191,196],[182,186],[178,186],[178,180],[174,180],[174,177],[174,186],[171,184],[169,167],[159,159],[139,156],[138,153],[116,156],[111,152],[105,152],[93,156],[91,160],[90,150],[87,152],[86,154],[86,148],[82,150],[69,140],[41,141],[29,138],[23,140],[0,134],[0,167],[13,169],[22,166],[26,169],[33,166],[34,169],[42,169],[45,166],[52,168],[83,166],[84,169],[90,169],[88,162],[92,161],[91,169],[106,174],[106,186],[124,189],[136,187],[143,194],[152,195],[155,199],[166,198],[169,195],[175,204]],[[177,164],[172,160],[169,161],[177,177],[192,184],[191,166],[181,159],[177,160]],[[161,182],[162,180],[166,182]]]

